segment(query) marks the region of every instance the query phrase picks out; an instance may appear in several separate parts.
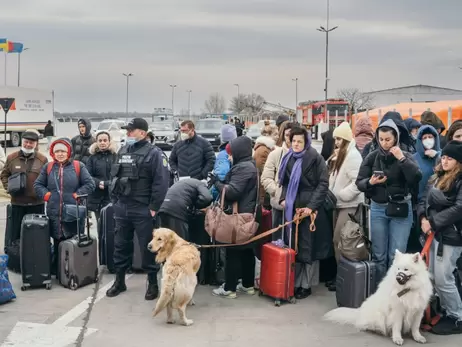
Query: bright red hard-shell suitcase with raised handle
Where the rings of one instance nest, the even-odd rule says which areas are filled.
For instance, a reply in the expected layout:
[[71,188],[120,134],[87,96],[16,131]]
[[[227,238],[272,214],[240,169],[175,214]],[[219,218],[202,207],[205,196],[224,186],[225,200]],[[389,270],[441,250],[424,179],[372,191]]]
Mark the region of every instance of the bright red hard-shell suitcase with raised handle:
[[[282,214],[284,220],[284,213]],[[282,233],[283,237],[285,232]],[[290,248],[292,233],[289,233],[289,247],[283,248],[273,243],[262,246],[259,295],[274,298],[274,305],[281,301],[295,303],[295,251]]]

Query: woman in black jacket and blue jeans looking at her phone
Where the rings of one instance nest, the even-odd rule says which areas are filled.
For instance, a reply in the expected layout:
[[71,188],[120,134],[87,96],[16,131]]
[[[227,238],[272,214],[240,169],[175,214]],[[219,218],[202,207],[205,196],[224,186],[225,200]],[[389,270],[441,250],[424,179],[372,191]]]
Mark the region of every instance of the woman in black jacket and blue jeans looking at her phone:
[[413,221],[411,192],[422,173],[412,155],[399,147],[399,129],[393,120],[380,124],[376,140],[379,147],[362,162],[356,185],[371,199],[372,260],[380,282],[395,251],[406,251]]

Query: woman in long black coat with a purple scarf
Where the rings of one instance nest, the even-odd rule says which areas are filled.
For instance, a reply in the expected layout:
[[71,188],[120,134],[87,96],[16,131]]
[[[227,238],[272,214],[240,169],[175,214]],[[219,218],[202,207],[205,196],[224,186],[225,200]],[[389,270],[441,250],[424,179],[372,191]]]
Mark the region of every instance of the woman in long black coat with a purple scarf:
[[[290,132],[292,147],[284,156],[279,169],[282,185],[280,204],[286,221],[299,215],[317,213],[316,231],[310,231],[310,218],[299,225],[298,253],[295,266],[295,297],[304,299],[311,295],[311,287],[319,282],[319,262],[333,254],[332,221],[325,210],[329,190],[329,175],[323,157],[311,146],[306,129],[294,127]],[[292,241],[296,226],[292,225]],[[289,238],[286,236],[286,243]],[[294,247],[293,244],[289,245]]]

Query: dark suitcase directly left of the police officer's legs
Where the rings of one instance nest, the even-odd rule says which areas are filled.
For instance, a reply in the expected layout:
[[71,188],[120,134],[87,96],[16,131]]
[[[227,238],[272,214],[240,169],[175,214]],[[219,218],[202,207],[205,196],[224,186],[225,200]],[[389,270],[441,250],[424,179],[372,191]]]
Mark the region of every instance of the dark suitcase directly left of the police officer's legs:
[[106,265],[110,273],[114,273],[114,207],[112,204],[101,209],[98,220],[99,264]]

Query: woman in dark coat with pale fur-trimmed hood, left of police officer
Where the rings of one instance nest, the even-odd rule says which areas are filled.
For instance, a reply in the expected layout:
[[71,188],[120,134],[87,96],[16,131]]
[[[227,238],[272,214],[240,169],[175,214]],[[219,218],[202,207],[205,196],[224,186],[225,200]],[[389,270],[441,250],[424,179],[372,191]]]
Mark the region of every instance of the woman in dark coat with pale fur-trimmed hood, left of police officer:
[[95,212],[99,219],[100,210],[109,204],[109,185],[111,183],[111,167],[117,158],[115,144],[106,131],[96,134],[96,142],[90,146],[90,158],[87,169],[95,181],[96,189],[88,199],[88,209]]

